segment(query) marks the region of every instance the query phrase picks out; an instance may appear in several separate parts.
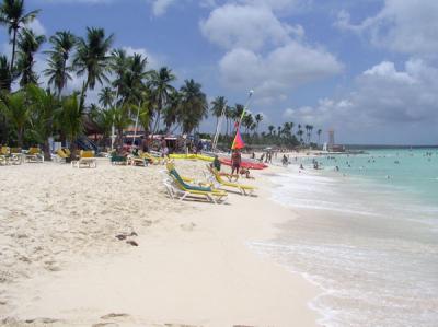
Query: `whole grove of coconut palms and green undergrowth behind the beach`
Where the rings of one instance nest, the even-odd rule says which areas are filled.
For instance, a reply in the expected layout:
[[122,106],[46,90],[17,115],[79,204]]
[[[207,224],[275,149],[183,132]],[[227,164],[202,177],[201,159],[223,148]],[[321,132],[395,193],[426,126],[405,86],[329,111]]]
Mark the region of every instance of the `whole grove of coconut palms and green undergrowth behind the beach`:
[[[37,35],[28,26],[39,13],[30,11],[24,0],[1,2],[0,22],[11,45],[11,52],[0,56],[1,144],[39,147],[49,160],[49,140],[74,150],[79,138],[94,136],[94,142],[105,148],[114,128],[115,144],[123,145],[127,129],[135,125],[142,138],[173,133],[208,139],[211,133],[199,133],[199,124],[208,116],[218,121],[223,113],[219,144],[230,147],[242,104],[230,105],[224,96],[209,103],[201,84],[193,79],[181,82],[172,68],[153,70],[147,57],[113,48],[115,34],[103,28],[89,26],[83,35],[69,31]],[[50,49],[42,51],[45,43]],[[44,70],[37,70],[36,58],[44,58]],[[80,86],[72,85],[73,78]],[[99,100],[92,102],[89,94],[97,91]],[[261,114],[244,114],[245,142],[311,143],[313,126],[286,121],[261,131],[262,120]],[[319,137],[321,132],[315,131]]]

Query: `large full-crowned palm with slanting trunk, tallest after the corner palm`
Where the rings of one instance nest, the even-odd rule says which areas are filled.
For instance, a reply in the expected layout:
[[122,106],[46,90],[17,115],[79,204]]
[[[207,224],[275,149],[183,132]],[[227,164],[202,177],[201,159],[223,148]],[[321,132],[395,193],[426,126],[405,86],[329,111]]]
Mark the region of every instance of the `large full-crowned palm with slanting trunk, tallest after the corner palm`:
[[81,98],[79,105],[83,106],[87,90],[94,90],[96,82],[103,84],[107,82],[106,72],[108,71],[107,56],[113,44],[114,35],[108,37],[105,30],[87,27],[85,38],[79,38],[78,49],[73,61],[78,77],[87,75],[82,85]]

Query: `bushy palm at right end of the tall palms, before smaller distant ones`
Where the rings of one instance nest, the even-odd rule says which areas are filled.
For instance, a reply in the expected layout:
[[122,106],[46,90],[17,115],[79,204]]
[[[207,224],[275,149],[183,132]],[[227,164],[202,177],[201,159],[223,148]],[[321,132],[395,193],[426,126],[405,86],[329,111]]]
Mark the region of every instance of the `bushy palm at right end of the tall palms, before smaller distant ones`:
[[201,85],[194,80],[185,80],[181,87],[181,122],[184,133],[191,133],[208,115],[207,96]]

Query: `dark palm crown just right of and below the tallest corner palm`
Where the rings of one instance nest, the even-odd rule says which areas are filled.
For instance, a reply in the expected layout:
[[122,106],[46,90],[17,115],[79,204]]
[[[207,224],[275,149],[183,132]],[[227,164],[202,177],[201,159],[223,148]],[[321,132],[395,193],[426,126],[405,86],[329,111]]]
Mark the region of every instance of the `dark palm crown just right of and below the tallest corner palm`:
[[23,28],[19,35],[18,71],[21,74],[20,85],[36,84],[38,75],[34,72],[34,55],[46,40],[44,35],[35,35],[32,30]]

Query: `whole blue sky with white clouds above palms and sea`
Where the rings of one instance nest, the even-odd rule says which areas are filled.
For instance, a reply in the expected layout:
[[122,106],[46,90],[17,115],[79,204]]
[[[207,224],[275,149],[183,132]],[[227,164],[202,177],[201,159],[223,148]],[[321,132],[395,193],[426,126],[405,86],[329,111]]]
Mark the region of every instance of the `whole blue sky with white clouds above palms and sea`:
[[[27,0],[47,37],[87,26],[114,47],[250,104],[261,129],[293,121],[338,143],[438,144],[437,0]],[[1,28],[1,27],[0,27]],[[10,52],[0,30],[2,52]],[[45,47],[47,47],[46,45]],[[37,70],[44,70],[44,56]],[[44,81],[44,77],[42,77]],[[74,79],[70,89],[79,89]],[[96,92],[89,96],[95,101]],[[216,119],[201,125],[212,131]]]

